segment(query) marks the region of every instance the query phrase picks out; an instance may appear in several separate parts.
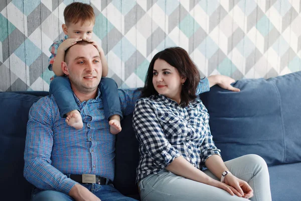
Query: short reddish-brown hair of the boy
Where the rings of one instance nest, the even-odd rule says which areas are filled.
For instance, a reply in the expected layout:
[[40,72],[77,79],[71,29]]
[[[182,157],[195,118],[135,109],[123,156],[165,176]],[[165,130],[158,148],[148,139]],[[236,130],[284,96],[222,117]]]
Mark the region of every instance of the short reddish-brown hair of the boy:
[[64,10],[65,24],[76,24],[81,21],[82,25],[85,22],[95,24],[95,14],[93,8],[88,4],[74,2],[69,4]]

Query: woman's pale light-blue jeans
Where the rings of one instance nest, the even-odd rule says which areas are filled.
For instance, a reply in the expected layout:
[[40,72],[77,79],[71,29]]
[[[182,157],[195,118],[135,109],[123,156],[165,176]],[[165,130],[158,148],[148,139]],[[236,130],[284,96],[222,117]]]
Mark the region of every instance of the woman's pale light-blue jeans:
[[[253,189],[251,200],[270,201],[271,192],[269,173],[265,161],[258,155],[250,154],[225,162],[230,172],[248,182]],[[208,169],[208,176],[219,180]],[[200,183],[178,176],[170,171],[162,170],[158,174],[150,174],[139,182],[142,201],[227,201],[247,200],[211,185]]]

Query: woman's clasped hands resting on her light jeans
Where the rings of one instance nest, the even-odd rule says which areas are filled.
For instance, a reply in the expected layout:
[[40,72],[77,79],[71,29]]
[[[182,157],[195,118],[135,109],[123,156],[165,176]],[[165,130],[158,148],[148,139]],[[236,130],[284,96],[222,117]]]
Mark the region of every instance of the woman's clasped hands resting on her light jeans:
[[225,184],[229,185],[230,189],[237,195],[249,199],[253,196],[251,186],[244,180],[241,180],[233,174],[227,174]]

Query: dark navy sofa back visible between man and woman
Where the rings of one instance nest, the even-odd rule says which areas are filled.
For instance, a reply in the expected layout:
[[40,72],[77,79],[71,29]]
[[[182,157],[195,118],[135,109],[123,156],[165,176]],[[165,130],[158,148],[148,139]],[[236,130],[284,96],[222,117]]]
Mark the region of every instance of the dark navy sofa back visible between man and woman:
[[116,136],[114,185],[122,194],[137,198],[135,178],[139,143],[132,128],[132,115],[123,118],[121,127],[121,132]]

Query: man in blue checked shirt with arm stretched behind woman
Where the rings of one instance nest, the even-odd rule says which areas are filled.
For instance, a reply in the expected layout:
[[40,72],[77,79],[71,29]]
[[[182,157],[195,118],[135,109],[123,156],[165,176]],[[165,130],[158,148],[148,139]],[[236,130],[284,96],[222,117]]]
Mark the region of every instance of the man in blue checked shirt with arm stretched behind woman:
[[[36,186],[33,200],[134,200],[111,184],[115,135],[110,134],[97,88],[102,71],[97,49],[87,41],[77,42],[66,51],[62,70],[69,76],[84,127],[76,130],[68,126],[53,96],[42,97],[32,106],[24,176]],[[230,89],[234,81],[225,76],[209,80],[211,85],[219,82]],[[199,86],[197,93],[208,90],[208,79],[201,80]],[[140,92],[119,89],[118,93],[123,115],[131,114]]]

